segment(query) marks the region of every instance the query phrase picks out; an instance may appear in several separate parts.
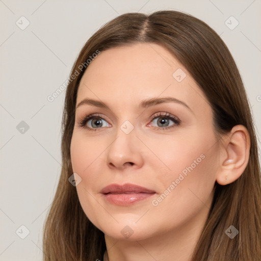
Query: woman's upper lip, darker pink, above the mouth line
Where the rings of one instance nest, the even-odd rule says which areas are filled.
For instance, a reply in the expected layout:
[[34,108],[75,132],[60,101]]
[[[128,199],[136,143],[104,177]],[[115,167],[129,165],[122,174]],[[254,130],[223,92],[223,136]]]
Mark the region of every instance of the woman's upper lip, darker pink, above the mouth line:
[[119,184],[111,184],[109,186],[106,186],[105,188],[103,188],[100,193],[102,194],[108,194],[108,193],[155,193],[155,191],[150,190],[150,189],[146,189],[144,187],[135,185],[135,184],[130,184],[130,183],[126,183],[123,185],[119,185]]

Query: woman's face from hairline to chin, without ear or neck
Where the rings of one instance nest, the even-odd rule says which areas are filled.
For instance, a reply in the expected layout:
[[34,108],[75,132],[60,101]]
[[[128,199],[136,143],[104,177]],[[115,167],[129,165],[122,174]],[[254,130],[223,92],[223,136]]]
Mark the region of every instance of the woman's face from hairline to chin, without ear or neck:
[[[77,92],[71,162],[82,179],[76,190],[83,210],[108,237],[142,240],[202,228],[218,161],[206,100],[157,44],[102,51],[88,66]],[[111,184],[148,191],[126,186],[103,194]]]

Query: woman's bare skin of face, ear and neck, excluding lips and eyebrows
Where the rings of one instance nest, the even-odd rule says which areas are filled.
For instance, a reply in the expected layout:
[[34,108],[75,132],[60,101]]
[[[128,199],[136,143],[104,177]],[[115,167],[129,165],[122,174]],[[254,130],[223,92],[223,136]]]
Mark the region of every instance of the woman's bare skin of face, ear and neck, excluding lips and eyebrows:
[[[186,73],[181,82],[172,76],[178,68]],[[185,102],[190,109],[175,102],[139,108],[144,99],[166,96]],[[247,165],[246,128],[233,127],[219,146],[207,98],[186,68],[158,44],[102,51],[83,75],[76,105],[85,98],[103,101],[108,108],[82,105],[76,109],[71,162],[73,172],[82,178],[76,186],[81,205],[105,233],[109,260],[190,260],[211,207],[215,181],[233,182]],[[174,127],[161,129],[157,120],[164,116],[150,120],[159,112],[176,116],[180,124],[169,120],[168,126]],[[93,113],[104,119],[95,132],[79,126],[82,117]],[[134,126],[129,134],[120,128],[126,120]],[[91,121],[95,120],[89,120],[90,127]],[[153,205],[152,200],[202,154],[204,159]],[[100,194],[109,184],[126,182],[156,194],[129,206],[113,205]],[[121,233],[125,226],[133,230],[129,238]]]

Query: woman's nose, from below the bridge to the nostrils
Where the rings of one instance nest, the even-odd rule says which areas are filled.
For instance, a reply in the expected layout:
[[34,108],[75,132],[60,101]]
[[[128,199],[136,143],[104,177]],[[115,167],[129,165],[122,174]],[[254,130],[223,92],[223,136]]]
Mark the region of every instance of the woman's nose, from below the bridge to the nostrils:
[[135,128],[129,134],[119,128],[116,138],[107,150],[107,166],[113,170],[140,168],[144,162],[141,145],[140,140],[136,137]]

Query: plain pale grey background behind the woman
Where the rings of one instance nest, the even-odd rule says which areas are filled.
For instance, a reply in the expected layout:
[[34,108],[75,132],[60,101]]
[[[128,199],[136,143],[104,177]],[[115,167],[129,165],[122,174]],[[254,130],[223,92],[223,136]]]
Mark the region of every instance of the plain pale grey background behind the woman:
[[[81,47],[101,25],[126,12],[161,9],[192,14],[221,36],[243,77],[260,137],[260,0],[0,0],[0,260],[42,259],[42,226],[61,171],[65,91],[53,102],[48,95],[67,80]],[[30,22],[24,30],[21,16]],[[233,30],[237,21],[230,16],[239,22]]]

